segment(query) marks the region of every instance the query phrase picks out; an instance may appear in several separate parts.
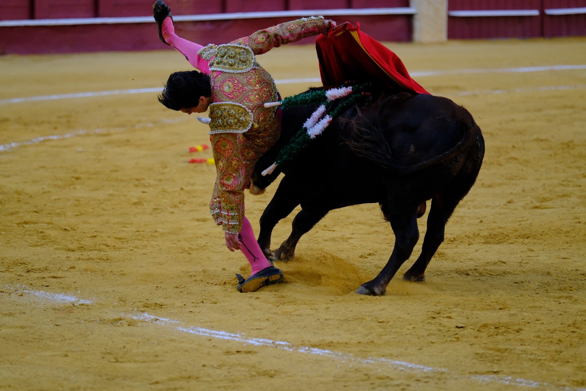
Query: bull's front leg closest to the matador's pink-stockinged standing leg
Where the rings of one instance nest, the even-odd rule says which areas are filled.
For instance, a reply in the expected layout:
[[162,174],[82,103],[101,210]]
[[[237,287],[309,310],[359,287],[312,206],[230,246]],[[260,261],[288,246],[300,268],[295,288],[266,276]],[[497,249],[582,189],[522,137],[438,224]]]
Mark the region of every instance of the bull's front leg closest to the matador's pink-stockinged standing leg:
[[301,203],[301,195],[295,181],[285,176],[271,202],[265,208],[260,218],[260,232],[258,232],[258,245],[267,258],[272,257],[271,235],[275,225],[291,213]]

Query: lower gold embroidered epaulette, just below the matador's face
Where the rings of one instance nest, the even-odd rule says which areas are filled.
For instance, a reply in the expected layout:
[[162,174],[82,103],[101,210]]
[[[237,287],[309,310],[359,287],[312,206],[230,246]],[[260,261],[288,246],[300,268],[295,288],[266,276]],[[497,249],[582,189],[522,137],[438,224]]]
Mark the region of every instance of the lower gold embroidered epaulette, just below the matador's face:
[[244,105],[233,102],[217,102],[210,106],[210,132],[244,133],[253,124],[253,113]]

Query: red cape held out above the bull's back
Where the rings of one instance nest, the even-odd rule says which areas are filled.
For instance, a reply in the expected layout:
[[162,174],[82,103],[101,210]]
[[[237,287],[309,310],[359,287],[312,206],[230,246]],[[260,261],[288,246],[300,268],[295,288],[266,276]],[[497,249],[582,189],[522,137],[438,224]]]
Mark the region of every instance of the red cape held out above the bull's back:
[[398,56],[349,22],[333,28],[328,38],[315,40],[319,73],[324,86],[339,86],[348,80],[377,82],[414,93],[429,94],[411,79]]

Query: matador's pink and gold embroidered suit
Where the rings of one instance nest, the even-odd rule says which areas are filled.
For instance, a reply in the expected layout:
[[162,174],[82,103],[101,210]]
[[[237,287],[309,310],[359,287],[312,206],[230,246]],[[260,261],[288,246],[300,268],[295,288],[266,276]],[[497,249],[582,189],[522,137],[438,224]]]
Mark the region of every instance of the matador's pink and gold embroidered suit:
[[[317,35],[324,26],[321,16],[281,23],[226,45],[197,45],[197,58],[180,45],[172,45],[212,80],[209,134],[217,178],[210,213],[226,232],[242,230],[244,188],[257,160],[280,136],[276,108],[263,107],[265,102],[278,100],[277,87],[255,56]],[[175,36],[173,41],[176,39],[180,38]]]

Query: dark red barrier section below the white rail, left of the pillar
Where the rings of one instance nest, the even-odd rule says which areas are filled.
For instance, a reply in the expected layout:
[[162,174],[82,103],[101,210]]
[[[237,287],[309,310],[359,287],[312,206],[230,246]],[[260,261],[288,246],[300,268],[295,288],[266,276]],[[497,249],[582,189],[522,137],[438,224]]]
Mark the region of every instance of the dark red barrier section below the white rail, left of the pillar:
[[[327,15],[325,15],[327,16]],[[336,16],[339,22],[356,22],[356,17]],[[175,31],[183,38],[206,45],[226,43],[253,33],[263,26],[287,22],[291,18],[237,19],[214,22],[176,22]],[[411,40],[411,18],[397,16],[360,16],[362,31],[380,41]],[[0,53],[71,53],[105,50],[151,50],[169,46],[159,41],[155,23],[76,26],[5,27],[2,33],[17,37],[0,40]],[[306,38],[301,43],[312,43]]]

